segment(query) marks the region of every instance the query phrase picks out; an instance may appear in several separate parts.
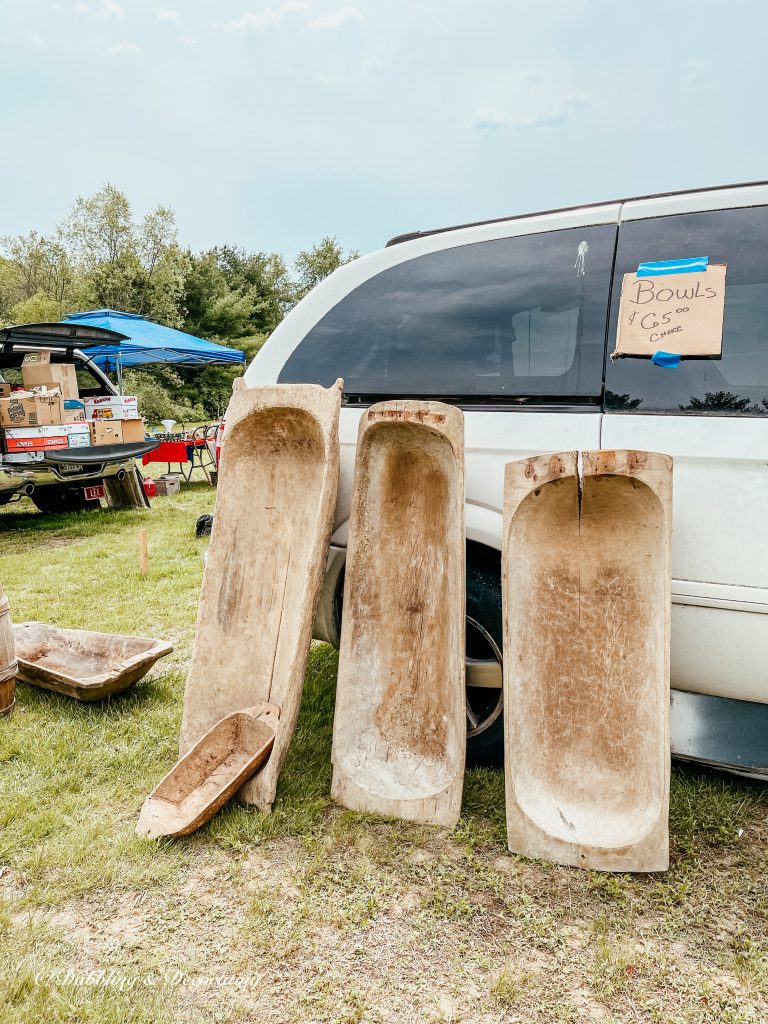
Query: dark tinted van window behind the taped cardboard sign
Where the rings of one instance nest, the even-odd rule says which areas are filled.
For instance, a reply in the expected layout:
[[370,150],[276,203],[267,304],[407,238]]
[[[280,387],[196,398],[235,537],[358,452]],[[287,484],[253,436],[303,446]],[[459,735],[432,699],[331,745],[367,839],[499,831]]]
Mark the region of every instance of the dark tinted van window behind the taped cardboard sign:
[[625,273],[650,260],[709,256],[727,265],[722,356],[674,370],[623,357],[606,371],[607,409],[639,413],[768,415],[768,209],[630,221],[618,233],[609,337],[616,336]]

